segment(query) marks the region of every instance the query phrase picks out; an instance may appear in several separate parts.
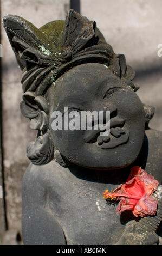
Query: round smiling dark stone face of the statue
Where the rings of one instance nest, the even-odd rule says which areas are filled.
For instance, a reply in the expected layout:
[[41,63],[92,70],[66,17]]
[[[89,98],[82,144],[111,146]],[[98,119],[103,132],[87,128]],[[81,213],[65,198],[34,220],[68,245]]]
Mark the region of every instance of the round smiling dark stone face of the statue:
[[55,147],[70,162],[95,169],[115,169],[137,158],[144,139],[144,108],[133,83],[105,65],[82,64],[67,71],[50,88],[51,113],[110,111],[110,136],[101,131],[51,129]]

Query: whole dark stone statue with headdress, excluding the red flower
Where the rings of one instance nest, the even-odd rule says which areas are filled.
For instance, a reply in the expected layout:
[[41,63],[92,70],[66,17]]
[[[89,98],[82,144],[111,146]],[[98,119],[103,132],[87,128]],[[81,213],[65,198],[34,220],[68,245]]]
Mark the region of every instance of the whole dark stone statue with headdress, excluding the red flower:
[[[153,245],[162,217],[116,214],[102,198],[140,166],[161,185],[162,132],[148,122],[154,108],[135,93],[135,72],[115,54],[96,23],[74,10],[40,29],[15,15],[3,19],[22,70],[22,114],[38,130],[27,145],[31,164],[22,184],[25,245]],[[110,134],[53,130],[52,113],[109,111]],[[92,123],[94,120],[92,120]]]

